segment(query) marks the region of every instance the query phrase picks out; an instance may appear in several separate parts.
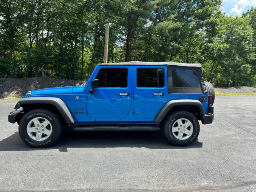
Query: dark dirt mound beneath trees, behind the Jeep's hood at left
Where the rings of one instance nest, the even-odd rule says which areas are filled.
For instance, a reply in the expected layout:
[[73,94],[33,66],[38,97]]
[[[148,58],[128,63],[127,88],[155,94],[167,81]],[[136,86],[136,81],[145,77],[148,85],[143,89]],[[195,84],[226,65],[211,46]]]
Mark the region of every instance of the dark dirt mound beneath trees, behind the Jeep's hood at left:
[[0,98],[22,98],[29,90],[81,85],[83,81],[33,77],[24,79],[0,78]]

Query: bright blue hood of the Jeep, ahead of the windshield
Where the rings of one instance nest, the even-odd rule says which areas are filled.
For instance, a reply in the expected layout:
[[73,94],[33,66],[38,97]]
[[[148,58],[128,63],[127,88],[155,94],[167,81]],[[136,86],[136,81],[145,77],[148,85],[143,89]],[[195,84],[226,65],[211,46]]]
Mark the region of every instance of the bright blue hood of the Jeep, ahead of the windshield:
[[[37,90],[32,90],[31,95],[72,94],[73,88],[74,86],[37,89]],[[26,96],[27,95],[28,95],[28,92],[26,93]]]

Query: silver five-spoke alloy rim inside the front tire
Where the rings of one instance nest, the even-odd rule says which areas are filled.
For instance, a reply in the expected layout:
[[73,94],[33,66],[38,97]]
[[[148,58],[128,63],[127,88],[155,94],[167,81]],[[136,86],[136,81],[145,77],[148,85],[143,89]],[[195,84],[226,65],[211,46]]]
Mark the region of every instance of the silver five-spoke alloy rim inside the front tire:
[[46,140],[52,133],[52,124],[43,117],[33,118],[28,122],[27,133],[33,140]]

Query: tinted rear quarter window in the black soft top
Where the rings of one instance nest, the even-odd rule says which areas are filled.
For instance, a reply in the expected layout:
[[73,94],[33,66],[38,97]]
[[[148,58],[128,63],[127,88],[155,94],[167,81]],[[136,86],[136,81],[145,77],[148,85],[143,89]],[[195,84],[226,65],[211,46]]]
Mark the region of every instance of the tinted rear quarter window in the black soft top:
[[172,70],[173,87],[198,88],[196,71],[191,69]]

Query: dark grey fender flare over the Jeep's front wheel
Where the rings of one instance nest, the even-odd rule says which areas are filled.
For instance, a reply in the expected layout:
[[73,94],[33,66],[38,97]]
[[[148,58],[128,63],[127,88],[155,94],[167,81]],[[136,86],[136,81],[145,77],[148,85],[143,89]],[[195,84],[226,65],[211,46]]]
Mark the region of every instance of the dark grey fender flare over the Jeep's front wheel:
[[60,98],[56,97],[29,97],[23,98],[18,101],[15,105],[15,109],[19,109],[20,107],[26,104],[51,104],[57,108],[63,118],[66,120],[68,124],[72,124],[76,122],[76,119],[70,113],[68,107]]

